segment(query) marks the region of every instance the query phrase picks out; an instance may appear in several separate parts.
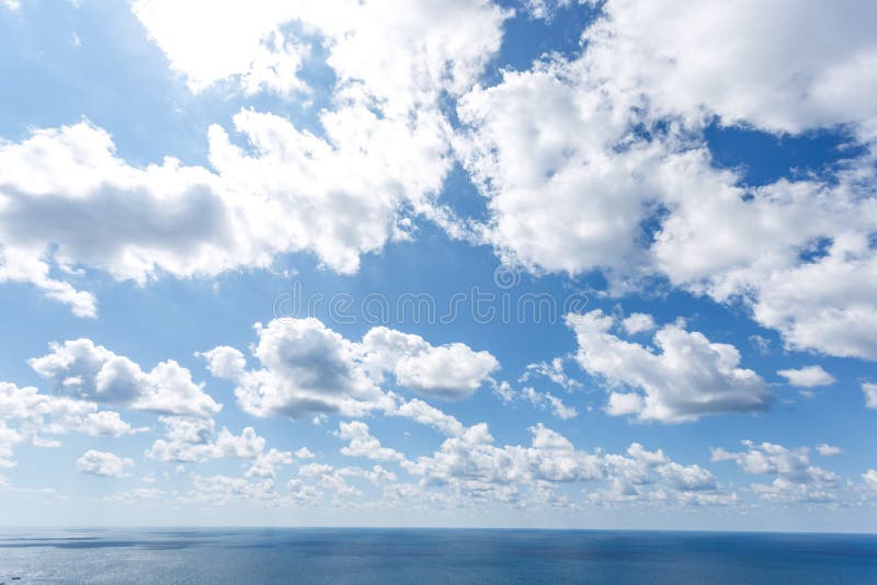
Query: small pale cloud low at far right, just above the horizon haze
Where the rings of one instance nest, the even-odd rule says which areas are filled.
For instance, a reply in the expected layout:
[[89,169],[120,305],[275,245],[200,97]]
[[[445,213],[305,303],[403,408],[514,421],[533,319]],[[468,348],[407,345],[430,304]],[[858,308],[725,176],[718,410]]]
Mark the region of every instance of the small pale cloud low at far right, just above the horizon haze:
[[744,440],[745,451],[713,449],[714,461],[733,461],[747,473],[774,477],[770,484],[755,483],[752,490],[763,500],[779,502],[832,502],[836,500],[840,477],[810,463],[809,449],[787,449],[782,445]]

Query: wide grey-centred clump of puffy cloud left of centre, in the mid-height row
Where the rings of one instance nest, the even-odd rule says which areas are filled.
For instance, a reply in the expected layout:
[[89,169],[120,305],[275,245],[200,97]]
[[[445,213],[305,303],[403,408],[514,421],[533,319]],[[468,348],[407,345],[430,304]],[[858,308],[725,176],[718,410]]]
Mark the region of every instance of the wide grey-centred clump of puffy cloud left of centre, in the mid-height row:
[[239,404],[254,416],[392,413],[396,399],[380,388],[386,372],[417,392],[462,398],[499,366],[487,352],[458,343],[433,346],[385,328],[351,342],[312,318],[276,319],[257,325],[257,334],[253,356],[261,369],[246,369],[243,354],[227,346],[201,354],[214,376],[238,385]]

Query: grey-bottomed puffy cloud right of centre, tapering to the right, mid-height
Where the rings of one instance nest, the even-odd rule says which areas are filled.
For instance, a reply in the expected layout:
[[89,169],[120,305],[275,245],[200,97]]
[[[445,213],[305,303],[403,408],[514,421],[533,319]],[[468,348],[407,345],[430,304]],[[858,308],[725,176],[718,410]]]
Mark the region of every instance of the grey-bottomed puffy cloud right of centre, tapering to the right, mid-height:
[[684,422],[770,405],[767,385],[739,367],[737,348],[713,343],[703,333],[664,325],[654,334],[656,352],[613,335],[614,320],[600,310],[569,314],[567,323],[579,342],[579,365],[612,388],[610,414]]

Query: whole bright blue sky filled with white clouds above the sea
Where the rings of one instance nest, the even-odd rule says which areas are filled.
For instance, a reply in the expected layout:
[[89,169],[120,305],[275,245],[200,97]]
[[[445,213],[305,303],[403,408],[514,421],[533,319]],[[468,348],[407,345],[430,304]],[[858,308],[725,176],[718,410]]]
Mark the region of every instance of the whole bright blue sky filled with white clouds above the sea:
[[0,2],[0,523],[873,531],[877,4]]

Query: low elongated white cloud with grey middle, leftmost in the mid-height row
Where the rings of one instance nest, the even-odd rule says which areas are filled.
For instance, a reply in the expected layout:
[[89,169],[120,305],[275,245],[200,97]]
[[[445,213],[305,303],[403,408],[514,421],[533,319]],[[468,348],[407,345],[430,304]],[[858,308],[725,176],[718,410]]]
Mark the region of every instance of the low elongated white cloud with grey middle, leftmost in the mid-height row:
[[132,410],[209,416],[223,408],[192,381],[190,371],[168,360],[150,371],[91,340],[49,345],[50,353],[29,360],[54,392]]

